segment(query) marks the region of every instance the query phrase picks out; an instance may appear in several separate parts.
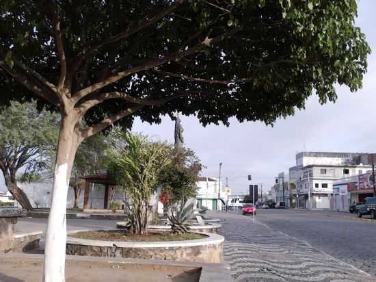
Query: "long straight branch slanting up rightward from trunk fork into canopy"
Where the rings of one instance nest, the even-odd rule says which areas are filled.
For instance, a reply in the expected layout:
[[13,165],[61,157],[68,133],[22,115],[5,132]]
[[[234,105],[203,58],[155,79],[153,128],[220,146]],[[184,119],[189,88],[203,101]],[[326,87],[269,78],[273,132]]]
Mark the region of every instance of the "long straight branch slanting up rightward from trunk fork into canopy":
[[187,49],[185,51],[176,51],[174,53],[171,53],[169,55],[165,55],[165,57],[162,57],[161,59],[157,60],[149,60],[147,62],[144,62],[144,64],[140,66],[134,66],[133,68],[129,68],[126,71],[121,71],[117,73],[116,75],[113,75],[112,77],[108,77],[107,79],[100,81],[96,84],[92,84],[91,86],[88,86],[87,88],[83,88],[82,90],[79,90],[74,95],[74,103],[76,104],[80,99],[83,97],[88,96],[88,94],[99,90],[100,88],[103,88],[109,84],[113,84],[114,82],[127,77],[129,75],[132,75],[133,73],[138,73],[139,71],[146,71],[150,68],[154,68],[156,66],[161,66],[161,64],[164,64],[165,62],[170,62],[173,60],[178,60],[182,57],[186,57],[188,55],[191,55],[193,53],[197,53],[198,51],[201,51],[205,46],[216,44],[218,42],[221,42],[222,40],[226,38],[230,38],[233,34],[236,34],[238,31],[240,31],[240,27],[235,27],[234,29],[231,29],[230,31],[221,34],[220,36],[216,36],[215,38],[208,38],[206,37],[202,42],[197,44],[194,47],[191,47],[190,49]]

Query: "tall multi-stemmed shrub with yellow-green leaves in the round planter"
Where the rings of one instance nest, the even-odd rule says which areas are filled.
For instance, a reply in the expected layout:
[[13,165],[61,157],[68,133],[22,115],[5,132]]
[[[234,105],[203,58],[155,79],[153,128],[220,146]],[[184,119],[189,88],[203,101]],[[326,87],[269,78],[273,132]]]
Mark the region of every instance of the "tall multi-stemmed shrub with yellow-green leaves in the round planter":
[[109,174],[123,185],[131,198],[126,203],[131,231],[148,233],[148,205],[158,185],[159,173],[171,161],[166,146],[152,143],[145,136],[119,131],[126,146],[112,151]]

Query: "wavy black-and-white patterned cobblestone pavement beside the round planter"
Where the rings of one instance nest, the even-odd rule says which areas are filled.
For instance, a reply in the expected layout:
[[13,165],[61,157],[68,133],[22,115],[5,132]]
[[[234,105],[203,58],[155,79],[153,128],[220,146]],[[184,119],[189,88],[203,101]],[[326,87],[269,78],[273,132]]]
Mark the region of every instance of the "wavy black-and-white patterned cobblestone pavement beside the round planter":
[[214,214],[226,237],[224,255],[232,279],[247,281],[376,281],[370,274],[336,259],[304,240],[271,229],[262,218]]

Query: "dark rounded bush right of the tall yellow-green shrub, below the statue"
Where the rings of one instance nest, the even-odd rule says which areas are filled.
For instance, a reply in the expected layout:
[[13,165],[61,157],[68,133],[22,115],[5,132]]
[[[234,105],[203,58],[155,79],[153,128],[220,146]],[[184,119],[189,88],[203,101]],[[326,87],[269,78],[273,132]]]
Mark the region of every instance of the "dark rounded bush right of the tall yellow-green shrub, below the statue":
[[196,196],[196,182],[202,170],[200,159],[191,149],[184,149],[178,156],[171,156],[174,162],[161,171],[160,183],[163,192],[169,195],[169,203],[173,205]]

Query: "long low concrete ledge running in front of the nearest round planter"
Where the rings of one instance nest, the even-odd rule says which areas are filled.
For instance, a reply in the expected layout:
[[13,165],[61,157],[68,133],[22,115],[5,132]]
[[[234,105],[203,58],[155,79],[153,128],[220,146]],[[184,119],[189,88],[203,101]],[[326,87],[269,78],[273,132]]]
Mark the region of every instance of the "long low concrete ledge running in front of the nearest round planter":
[[[16,258],[16,259],[38,259],[43,260],[43,255],[37,254],[25,254],[25,253],[0,253],[0,258]],[[87,256],[76,256],[67,255],[66,260],[69,261],[88,261],[88,262],[104,262],[108,264],[139,264],[144,265],[167,265],[176,267],[197,267],[202,268],[200,281],[199,282],[230,282],[232,281],[230,275],[230,265],[227,263],[221,264],[207,264],[207,263],[195,263],[195,262],[176,262],[176,261],[165,261],[156,259],[126,259],[119,257],[87,257]],[[111,277],[109,277],[111,279]]]

